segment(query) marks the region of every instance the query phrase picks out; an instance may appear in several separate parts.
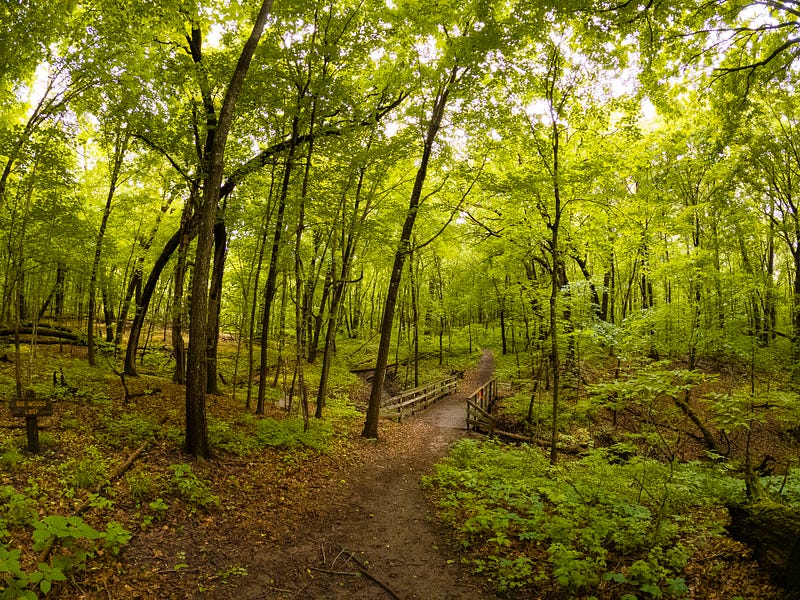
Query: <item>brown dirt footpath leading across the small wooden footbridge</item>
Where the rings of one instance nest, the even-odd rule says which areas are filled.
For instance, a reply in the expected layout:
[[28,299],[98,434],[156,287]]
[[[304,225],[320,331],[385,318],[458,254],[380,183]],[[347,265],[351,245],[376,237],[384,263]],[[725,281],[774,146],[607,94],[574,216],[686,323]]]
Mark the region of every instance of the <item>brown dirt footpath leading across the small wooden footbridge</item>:
[[485,352],[456,394],[407,419],[402,435],[378,442],[374,460],[324,492],[320,504],[325,508],[299,516],[279,540],[259,546],[248,576],[212,597],[493,596],[460,564],[433,521],[420,484],[450,442],[465,434],[464,398],[491,377],[493,367],[491,353]]

